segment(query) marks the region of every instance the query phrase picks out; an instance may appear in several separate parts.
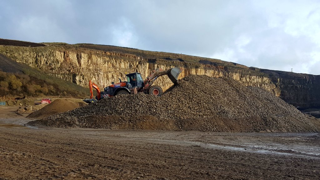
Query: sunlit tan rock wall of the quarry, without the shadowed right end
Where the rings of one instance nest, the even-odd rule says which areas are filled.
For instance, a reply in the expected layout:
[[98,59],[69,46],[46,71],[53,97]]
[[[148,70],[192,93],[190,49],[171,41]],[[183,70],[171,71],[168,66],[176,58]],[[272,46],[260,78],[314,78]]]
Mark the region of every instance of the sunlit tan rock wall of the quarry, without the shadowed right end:
[[[86,49],[66,50],[61,47],[15,47],[0,46],[0,52],[16,60],[28,64],[31,67],[47,71],[52,76],[59,77],[88,86],[89,80],[100,87],[118,82],[118,78],[125,78],[125,73],[140,72],[145,78],[156,68],[169,69],[175,66],[184,67],[179,78],[189,74],[208,75],[210,77],[227,76],[236,79],[246,86],[256,86],[267,89],[279,95],[276,86],[266,76],[251,76],[242,73],[242,70],[234,72],[226,70],[227,67],[213,65],[192,64],[185,62],[168,61],[158,59],[146,59],[140,56],[124,53],[92,51]],[[199,82],[201,83],[201,82]],[[157,85],[165,89],[172,86],[169,78],[163,76],[157,79]],[[217,87],[218,88],[218,87]]]

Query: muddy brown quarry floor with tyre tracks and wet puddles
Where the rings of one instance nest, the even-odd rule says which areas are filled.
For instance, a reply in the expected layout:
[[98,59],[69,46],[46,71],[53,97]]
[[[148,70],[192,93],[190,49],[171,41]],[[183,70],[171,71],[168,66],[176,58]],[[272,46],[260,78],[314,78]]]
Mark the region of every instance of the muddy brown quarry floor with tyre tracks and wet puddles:
[[0,108],[3,179],[320,179],[320,134],[24,127]]

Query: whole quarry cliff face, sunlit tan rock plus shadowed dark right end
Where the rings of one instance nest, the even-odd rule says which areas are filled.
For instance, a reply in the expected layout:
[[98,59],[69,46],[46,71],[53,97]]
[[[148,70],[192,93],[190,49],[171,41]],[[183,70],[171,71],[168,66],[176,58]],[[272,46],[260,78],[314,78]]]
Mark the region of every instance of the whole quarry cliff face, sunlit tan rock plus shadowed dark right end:
[[[296,84],[297,86],[293,85],[293,88],[289,88],[289,86],[287,87],[284,84],[290,81],[290,77],[271,76],[268,72],[260,72],[259,69],[248,68],[243,65],[237,66],[235,64],[235,66],[230,66],[223,63],[199,63],[166,60],[163,58],[144,58],[129,53],[101,51],[76,46],[70,48],[52,45],[44,47],[0,45],[0,53],[17,62],[44,70],[52,76],[85,87],[88,87],[89,80],[92,80],[103,89],[111,85],[111,82],[119,82],[118,78],[125,80],[125,73],[140,72],[142,77],[146,78],[151,74],[151,70],[156,68],[167,70],[179,66],[184,68],[179,78],[190,74],[207,75],[210,77],[226,76],[238,80],[245,86],[266,89],[296,106],[317,104],[311,101],[314,96],[319,100],[319,93],[318,95],[311,95],[308,90],[314,88],[314,86],[319,87],[319,83],[308,86],[308,83],[313,81],[306,81],[303,86],[298,83]],[[158,78],[155,84],[163,87],[164,90],[172,86],[172,82],[166,76]],[[299,88],[300,86],[301,88]],[[304,95],[301,95],[301,98],[291,97],[300,93],[304,93]],[[311,93],[316,94],[315,91],[311,91]]]

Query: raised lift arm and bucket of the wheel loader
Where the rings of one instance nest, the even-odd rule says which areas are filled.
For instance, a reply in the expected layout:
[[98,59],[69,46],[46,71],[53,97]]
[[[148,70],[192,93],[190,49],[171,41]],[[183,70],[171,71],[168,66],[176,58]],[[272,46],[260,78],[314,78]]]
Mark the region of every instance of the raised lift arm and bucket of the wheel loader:
[[146,78],[144,81],[144,89],[148,90],[150,86],[153,84],[153,82],[160,76],[168,75],[169,79],[173,82],[173,84],[177,84],[178,82],[178,76],[180,75],[182,71],[182,68],[175,67],[170,68],[169,70],[163,70],[161,68],[158,68],[156,70],[153,70],[152,74]]

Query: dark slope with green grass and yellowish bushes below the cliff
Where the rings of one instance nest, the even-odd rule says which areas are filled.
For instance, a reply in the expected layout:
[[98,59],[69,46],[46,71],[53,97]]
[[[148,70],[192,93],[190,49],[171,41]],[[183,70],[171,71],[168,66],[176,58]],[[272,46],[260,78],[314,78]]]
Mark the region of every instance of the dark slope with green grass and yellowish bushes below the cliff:
[[89,95],[89,88],[50,76],[3,54],[0,54],[0,64],[0,96],[62,95],[83,98]]

